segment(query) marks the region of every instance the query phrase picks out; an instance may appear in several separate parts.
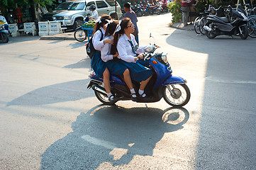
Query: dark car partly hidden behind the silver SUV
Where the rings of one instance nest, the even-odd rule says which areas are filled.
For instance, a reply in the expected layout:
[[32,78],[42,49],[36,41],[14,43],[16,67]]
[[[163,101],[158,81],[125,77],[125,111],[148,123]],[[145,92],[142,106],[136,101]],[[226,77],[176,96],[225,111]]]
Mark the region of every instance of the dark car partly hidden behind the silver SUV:
[[71,6],[72,4],[74,4],[75,1],[79,1],[79,0],[72,0],[72,1],[66,1],[63,2],[62,4],[58,5],[54,11],[45,13],[42,16],[42,21],[53,21],[52,16],[54,16],[57,13],[61,13],[63,11],[67,11],[67,9],[69,8],[69,6]]

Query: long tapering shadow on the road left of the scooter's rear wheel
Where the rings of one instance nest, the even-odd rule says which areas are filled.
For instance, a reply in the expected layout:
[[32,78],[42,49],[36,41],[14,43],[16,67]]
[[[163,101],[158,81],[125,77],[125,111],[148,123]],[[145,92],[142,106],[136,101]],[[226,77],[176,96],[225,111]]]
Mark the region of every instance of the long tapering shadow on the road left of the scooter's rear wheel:
[[86,93],[88,83],[89,79],[82,79],[44,86],[15,98],[7,103],[7,106],[36,106],[64,101],[77,101],[90,96]]

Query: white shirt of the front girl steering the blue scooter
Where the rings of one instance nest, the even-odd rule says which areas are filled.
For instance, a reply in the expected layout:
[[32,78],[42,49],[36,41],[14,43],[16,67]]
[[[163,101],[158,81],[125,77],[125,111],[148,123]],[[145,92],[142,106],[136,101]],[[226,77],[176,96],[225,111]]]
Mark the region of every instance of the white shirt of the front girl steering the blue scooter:
[[[137,42],[135,41],[135,37],[133,34],[130,34],[130,40],[133,42],[133,47],[135,47],[135,45],[138,45]],[[130,45],[129,38],[126,34],[121,35],[117,42],[116,49],[118,51],[119,59],[124,60],[126,62],[136,62],[136,55],[133,53],[133,49]],[[143,50],[136,51],[137,54],[140,54],[142,52]]]

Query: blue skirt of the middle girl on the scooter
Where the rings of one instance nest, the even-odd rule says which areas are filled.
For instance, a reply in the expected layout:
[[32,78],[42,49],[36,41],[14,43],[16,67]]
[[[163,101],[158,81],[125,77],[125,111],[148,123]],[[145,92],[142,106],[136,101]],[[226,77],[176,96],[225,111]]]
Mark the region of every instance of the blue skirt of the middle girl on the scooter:
[[109,60],[106,62],[106,67],[108,67],[108,70],[110,74],[116,75],[116,76],[123,76],[123,72],[128,69],[125,65],[121,64],[119,61]]

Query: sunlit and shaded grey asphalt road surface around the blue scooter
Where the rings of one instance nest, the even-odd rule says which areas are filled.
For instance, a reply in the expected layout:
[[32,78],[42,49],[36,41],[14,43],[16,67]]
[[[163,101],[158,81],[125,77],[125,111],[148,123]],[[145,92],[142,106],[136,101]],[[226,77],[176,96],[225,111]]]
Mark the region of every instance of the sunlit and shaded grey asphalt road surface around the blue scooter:
[[187,79],[184,108],[118,101],[87,89],[85,42],[11,38],[0,44],[0,169],[255,169],[256,39],[209,40],[138,18]]

